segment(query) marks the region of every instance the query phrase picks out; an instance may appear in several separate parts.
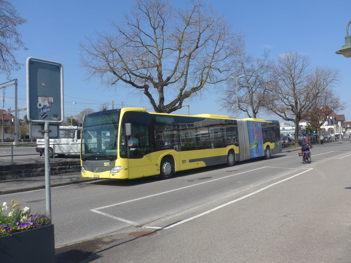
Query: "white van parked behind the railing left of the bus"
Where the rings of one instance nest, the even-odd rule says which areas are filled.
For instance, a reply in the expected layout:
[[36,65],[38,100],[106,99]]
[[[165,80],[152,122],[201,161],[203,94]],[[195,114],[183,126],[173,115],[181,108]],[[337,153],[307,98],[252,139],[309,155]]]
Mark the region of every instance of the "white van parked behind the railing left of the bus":
[[[64,157],[66,154],[80,154],[80,134],[82,127],[77,126],[60,126],[60,139],[49,139],[50,158],[53,153],[59,157]],[[44,153],[44,139],[37,139],[37,147],[35,148],[40,156]]]

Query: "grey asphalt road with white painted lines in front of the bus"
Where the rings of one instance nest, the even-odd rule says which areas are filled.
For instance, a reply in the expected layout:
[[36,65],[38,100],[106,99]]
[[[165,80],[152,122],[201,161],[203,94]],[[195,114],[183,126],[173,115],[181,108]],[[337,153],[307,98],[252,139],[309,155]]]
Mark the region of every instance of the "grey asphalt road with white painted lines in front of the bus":
[[[315,147],[310,164],[294,151],[52,188],[56,247],[102,236],[57,248],[57,262],[351,262],[350,146]],[[12,199],[45,210],[45,190]]]

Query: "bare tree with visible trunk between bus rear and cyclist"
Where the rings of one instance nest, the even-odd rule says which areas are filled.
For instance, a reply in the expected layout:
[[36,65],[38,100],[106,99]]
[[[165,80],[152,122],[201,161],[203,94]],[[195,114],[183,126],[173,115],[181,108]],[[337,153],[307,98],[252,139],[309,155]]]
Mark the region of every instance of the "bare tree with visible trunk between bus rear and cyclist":
[[339,72],[326,67],[310,67],[309,58],[290,52],[281,55],[276,67],[277,80],[265,96],[268,112],[295,124],[295,146],[298,146],[299,122],[315,106],[326,88],[339,82]]

